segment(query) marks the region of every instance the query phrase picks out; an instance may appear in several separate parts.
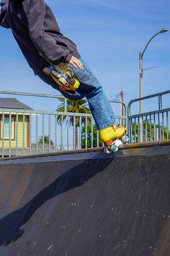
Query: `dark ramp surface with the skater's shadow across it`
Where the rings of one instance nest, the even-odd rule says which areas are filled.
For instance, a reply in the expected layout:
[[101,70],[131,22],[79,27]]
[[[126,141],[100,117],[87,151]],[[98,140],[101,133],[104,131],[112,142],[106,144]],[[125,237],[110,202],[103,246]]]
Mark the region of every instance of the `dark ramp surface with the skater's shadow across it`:
[[168,144],[0,161],[0,255],[169,256]]

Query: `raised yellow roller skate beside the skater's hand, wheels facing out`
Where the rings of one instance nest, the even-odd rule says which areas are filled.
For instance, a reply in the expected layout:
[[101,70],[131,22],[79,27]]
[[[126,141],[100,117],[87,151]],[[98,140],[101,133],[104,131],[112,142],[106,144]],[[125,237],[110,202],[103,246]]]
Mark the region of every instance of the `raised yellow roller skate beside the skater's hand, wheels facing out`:
[[45,67],[43,72],[52,77],[61,90],[77,90],[79,88],[79,80],[76,79],[68,64],[59,64],[58,66],[51,64],[50,67]]

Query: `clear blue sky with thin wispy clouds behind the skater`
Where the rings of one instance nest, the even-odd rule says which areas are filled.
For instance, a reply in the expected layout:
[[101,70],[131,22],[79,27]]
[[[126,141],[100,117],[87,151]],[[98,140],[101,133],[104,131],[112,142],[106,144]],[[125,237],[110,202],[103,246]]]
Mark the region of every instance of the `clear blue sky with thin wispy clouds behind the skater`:
[[[115,98],[121,90],[127,103],[138,98],[139,51],[162,27],[170,28],[170,1],[48,0],[47,3],[62,33],[77,44],[81,56],[102,82],[108,98]],[[0,38],[1,90],[58,94],[34,76],[10,30],[1,27]],[[143,74],[143,95],[169,90],[169,41],[170,32],[157,35],[148,46],[143,68],[156,68]],[[30,105],[34,107],[35,101],[30,101]]]

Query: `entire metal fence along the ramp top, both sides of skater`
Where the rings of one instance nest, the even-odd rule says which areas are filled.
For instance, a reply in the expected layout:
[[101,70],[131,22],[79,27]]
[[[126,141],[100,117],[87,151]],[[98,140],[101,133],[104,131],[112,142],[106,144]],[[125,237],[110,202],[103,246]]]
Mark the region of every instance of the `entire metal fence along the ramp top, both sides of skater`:
[[[4,90],[0,90],[0,95],[31,97],[36,98],[36,101],[38,98],[63,99],[63,111],[0,108],[0,155],[3,158],[12,155],[95,148],[102,145],[91,114],[68,112],[68,101],[63,96]],[[111,104],[119,106],[117,124],[128,127],[130,143],[169,140],[170,101],[167,101],[166,96],[170,96],[170,90],[130,101],[128,107],[122,101],[110,101]],[[152,100],[157,100],[154,110],[146,109],[144,113],[138,113],[136,106],[140,101]],[[151,103],[147,102],[145,106],[147,105]],[[9,120],[8,129],[5,127],[6,116]]]

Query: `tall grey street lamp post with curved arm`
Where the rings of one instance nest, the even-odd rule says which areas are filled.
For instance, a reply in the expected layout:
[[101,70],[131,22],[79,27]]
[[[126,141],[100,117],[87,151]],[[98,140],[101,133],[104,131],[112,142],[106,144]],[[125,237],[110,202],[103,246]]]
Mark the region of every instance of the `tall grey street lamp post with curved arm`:
[[[143,55],[145,54],[146,48],[148,47],[148,44],[151,43],[151,40],[156,37],[158,34],[166,33],[168,30],[163,28],[158,33],[153,35],[150,40],[148,40],[148,43],[146,43],[146,46],[143,51],[140,51],[139,53],[139,96],[140,98],[143,98]],[[143,101],[140,101],[140,114],[143,114]],[[143,142],[143,119],[142,116],[139,118],[139,142]]]

